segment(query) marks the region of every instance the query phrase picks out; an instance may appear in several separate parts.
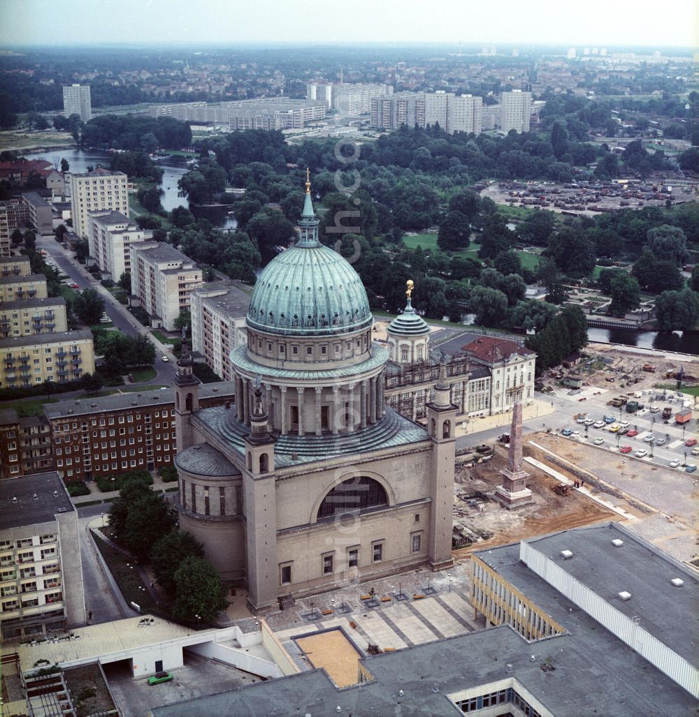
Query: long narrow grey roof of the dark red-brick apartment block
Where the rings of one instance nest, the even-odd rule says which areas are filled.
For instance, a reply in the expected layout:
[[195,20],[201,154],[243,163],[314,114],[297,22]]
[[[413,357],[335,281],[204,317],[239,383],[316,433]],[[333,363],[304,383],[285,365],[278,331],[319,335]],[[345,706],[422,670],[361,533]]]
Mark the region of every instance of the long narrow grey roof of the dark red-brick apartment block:
[[[235,393],[235,381],[217,381],[199,386],[200,399],[212,396],[228,397]],[[162,406],[174,403],[174,389],[151,389],[150,391],[130,391],[113,396],[85,397],[83,399],[65,399],[44,404],[44,414],[49,419],[85,416],[102,411],[119,411],[145,406]]]

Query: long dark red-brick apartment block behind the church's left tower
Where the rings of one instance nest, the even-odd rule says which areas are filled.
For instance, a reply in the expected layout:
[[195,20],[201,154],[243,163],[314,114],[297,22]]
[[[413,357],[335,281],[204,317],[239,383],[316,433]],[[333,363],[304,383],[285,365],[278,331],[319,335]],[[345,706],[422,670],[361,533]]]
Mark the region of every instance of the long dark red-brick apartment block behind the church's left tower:
[[[205,384],[200,401],[232,400],[233,381]],[[94,480],[131,470],[171,465],[177,453],[174,391],[144,391],[44,406],[55,468],[66,481]]]

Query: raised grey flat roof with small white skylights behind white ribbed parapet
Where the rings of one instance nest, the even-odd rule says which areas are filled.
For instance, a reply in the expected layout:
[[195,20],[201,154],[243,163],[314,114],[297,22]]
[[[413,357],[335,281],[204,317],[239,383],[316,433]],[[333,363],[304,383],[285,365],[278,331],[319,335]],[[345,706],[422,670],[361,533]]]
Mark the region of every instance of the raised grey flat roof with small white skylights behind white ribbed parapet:
[[[612,540],[624,541],[614,547]],[[699,657],[699,578],[662,551],[619,528],[616,523],[589,526],[555,533],[527,541],[563,568],[568,574],[593,590],[627,617],[638,617],[639,625],[665,645],[695,662]],[[517,555],[518,546],[515,546]],[[478,556],[507,578],[499,564],[501,552],[507,555],[509,565],[510,547],[494,549]],[[573,557],[564,560],[560,551],[570,550]],[[505,568],[506,571],[510,570]],[[685,584],[677,588],[670,580],[681,578]],[[517,574],[512,580],[522,592],[533,597],[531,591],[540,578],[533,571],[524,576]],[[619,592],[631,593],[631,599],[623,601]],[[537,599],[534,602],[543,609]]]

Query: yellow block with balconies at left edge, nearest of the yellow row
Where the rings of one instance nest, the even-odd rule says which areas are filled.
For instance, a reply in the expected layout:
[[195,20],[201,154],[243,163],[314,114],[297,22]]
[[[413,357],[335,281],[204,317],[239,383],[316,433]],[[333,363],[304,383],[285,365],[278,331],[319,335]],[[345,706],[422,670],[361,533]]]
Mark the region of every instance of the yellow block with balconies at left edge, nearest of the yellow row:
[[75,381],[94,372],[89,330],[0,338],[0,388]]

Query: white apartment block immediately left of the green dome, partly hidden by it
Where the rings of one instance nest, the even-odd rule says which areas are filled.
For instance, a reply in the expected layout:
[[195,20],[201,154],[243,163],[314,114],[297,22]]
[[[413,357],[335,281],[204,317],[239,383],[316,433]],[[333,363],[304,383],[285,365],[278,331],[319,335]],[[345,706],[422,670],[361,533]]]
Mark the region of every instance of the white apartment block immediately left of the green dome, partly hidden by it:
[[190,299],[192,349],[218,376],[230,381],[230,352],[248,342],[245,315],[250,295],[229,282],[215,282],[194,289]]

